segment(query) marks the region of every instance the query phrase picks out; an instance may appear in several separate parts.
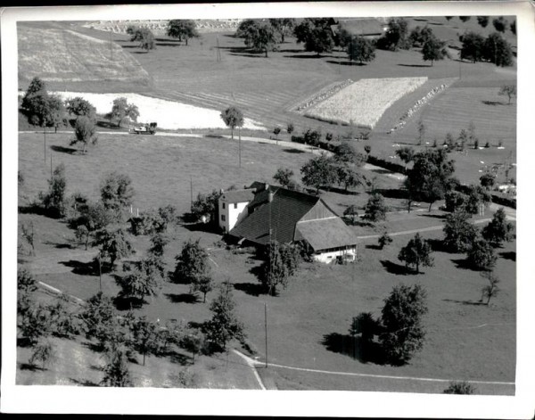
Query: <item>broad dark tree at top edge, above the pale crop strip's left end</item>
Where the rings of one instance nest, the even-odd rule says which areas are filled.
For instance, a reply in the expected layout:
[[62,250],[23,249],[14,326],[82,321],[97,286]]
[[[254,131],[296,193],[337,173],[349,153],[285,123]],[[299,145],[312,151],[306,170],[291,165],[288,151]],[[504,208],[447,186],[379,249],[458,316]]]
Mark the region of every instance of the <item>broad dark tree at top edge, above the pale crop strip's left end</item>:
[[298,44],[304,44],[305,51],[314,52],[317,56],[333,51],[334,38],[329,19],[304,19],[293,29],[293,34]]

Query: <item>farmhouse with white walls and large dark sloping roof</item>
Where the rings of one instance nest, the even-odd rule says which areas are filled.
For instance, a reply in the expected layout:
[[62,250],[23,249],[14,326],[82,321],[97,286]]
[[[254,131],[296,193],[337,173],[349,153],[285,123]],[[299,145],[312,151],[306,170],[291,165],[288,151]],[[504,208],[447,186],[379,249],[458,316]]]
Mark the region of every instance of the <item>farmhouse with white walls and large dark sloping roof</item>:
[[317,196],[254,183],[222,194],[218,210],[219,226],[238,242],[303,243],[318,261],[355,259],[355,235]]

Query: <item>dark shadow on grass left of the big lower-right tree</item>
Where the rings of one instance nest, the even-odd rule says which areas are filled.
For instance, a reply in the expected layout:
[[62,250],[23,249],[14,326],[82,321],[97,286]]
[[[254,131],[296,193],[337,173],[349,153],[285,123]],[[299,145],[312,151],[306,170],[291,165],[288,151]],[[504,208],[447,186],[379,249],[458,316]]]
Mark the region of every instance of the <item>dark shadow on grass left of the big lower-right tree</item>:
[[378,343],[365,342],[357,336],[339,333],[325,334],[321,344],[326,350],[355,358],[361,363],[369,362],[376,365],[386,363],[384,352]]

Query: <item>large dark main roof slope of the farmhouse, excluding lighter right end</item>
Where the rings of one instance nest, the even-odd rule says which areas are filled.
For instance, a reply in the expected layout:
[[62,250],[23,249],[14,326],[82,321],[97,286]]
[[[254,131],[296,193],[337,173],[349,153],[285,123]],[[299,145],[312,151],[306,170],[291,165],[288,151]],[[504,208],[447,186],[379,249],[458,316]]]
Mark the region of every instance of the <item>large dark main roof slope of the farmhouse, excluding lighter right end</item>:
[[[272,202],[268,202],[269,192],[273,193]],[[245,238],[252,243],[267,245],[269,243],[269,226],[271,226],[271,240],[279,243],[293,241],[297,222],[316,205],[319,197],[287,190],[285,188],[269,187],[269,190],[256,194],[250,207],[256,209],[244,218],[229,235]]]

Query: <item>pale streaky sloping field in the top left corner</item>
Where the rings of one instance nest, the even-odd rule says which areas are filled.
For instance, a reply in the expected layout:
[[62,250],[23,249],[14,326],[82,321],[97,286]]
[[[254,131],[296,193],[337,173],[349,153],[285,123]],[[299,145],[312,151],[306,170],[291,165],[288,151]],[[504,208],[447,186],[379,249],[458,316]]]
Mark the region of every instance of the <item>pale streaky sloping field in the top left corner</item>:
[[136,58],[113,42],[70,29],[44,30],[31,24],[19,24],[18,38],[22,89],[36,76],[62,89],[71,83],[151,85],[151,77]]

